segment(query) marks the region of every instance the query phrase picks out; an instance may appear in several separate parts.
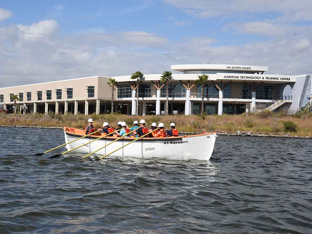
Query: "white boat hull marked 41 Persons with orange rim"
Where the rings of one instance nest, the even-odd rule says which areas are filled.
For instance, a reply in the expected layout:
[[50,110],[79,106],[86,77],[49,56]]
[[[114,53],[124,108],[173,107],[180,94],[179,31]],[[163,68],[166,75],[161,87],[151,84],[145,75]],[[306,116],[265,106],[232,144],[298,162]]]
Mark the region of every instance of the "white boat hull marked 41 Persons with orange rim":
[[[66,143],[75,140],[81,135],[64,131]],[[90,136],[79,139],[73,143],[67,144],[68,150],[74,149],[77,146],[90,142],[99,136]],[[96,140],[90,144],[75,149],[74,152],[89,154],[106,144],[109,144],[116,137],[105,137]],[[104,156],[110,152],[124,146],[135,138],[120,139],[105,148],[97,151],[95,154]],[[199,159],[209,160],[214,148],[216,134],[199,134],[181,137],[167,138],[143,138],[139,139],[122,149],[117,150],[112,156],[117,157],[134,157],[134,158],[167,158],[172,160],[188,160]],[[83,155],[84,156],[84,155]]]

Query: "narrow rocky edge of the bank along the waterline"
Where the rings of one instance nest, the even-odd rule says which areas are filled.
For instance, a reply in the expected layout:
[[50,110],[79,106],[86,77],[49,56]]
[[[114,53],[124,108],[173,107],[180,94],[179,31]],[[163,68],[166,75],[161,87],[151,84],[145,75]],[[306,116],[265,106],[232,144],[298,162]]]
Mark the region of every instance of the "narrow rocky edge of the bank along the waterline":
[[[26,126],[26,125],[0,125],[2,128],[36,128],[36,129],[63,129],[63,127],[45,127],[45,126]],[[185,135],[196,135],[201,134],[201,132],[180,132],[180,134]],[[289,134],[275,135],[275,134],[252,134],[251,132],[241,132],[227,133],[227,132],[217,132],[219,136],[245,136],[245,137],[273,137],[273,138],[294,138],[294,139],[312,139],[309,136],[291,136]]]

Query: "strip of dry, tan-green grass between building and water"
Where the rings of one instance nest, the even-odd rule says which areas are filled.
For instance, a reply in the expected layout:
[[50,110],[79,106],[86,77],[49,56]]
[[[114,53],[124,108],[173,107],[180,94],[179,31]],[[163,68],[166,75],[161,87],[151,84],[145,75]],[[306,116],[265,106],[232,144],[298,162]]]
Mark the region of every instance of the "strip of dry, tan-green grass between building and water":
[[[132,126],[134,120],[145,119],[148,126],[153,122],[163,122],[168,128],[171,122],[174,122],[179,131],[183,132],[202,132],[219,130],[221,132],[236,133],[236,131],[245,131],[255,134],[284,134],[289,133],[292,136],[312,137],[312,118],[297,118],[283,113],[260,113],[258,115],[165,115],[165,116],[134,116],[134,115],[48,115],[27,114],[27,115],[6,115],[0,114],[0,125],[25,125],[42,127],[74,127],[84,128],[87,119],[94,119],[95,128],[102,127],[103,122],[107,121],[116,126],[118,121],[125,121],[128,126]],[[284,129],[283,122],[292,121],[297,125],[297,132],[287,132]]]

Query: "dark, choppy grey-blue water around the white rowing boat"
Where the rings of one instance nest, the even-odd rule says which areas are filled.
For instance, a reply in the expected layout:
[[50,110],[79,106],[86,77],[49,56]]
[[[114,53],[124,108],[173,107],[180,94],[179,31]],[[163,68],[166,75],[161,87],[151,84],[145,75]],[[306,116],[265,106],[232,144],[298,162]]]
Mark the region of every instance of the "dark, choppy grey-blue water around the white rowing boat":
[[1,234],[312,233],[309,139],[222,136],[210,161],[84,161],[33,156],[61,130],[0,135]]

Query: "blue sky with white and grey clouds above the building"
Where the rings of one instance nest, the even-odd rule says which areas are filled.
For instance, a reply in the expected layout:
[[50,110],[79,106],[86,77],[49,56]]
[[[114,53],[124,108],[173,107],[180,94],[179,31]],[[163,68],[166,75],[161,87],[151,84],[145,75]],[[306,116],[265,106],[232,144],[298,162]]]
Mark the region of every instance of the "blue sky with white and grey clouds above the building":
[[311,0],[1,1],[0,87],[174,64],[311,74],[311,10]]

